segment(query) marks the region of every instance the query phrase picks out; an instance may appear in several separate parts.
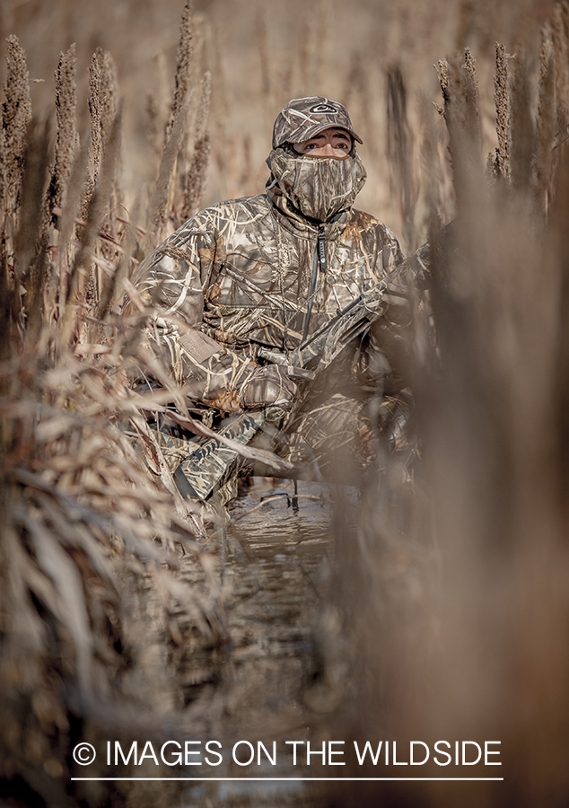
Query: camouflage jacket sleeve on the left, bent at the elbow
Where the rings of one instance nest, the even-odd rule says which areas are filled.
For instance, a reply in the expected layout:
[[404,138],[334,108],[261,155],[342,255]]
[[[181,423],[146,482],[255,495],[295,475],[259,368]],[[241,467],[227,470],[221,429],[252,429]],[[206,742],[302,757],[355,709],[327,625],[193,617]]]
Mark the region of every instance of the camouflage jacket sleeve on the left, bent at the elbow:
[[239,390],[256,364],[203,329],[206,294],[223,265],[214,208],[183,224],[146,259],[137,283],[150,306],[147,337],[154,354],[192,399],[225,411],[240,408]]

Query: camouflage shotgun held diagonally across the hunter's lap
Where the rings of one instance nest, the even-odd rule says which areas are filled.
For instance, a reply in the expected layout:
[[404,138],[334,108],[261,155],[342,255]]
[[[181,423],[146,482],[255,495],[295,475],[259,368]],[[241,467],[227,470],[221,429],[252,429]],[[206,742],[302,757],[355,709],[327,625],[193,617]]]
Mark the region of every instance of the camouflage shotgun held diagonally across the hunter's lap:
[[[304,339],[288,356],[271,348],[260,347],[258,356],[274,364],[288,366],[289,375],[295,379],[311,381],[337,359],[345,348],[381,317],[381,302],[390,285],[402,281],[408,284],[425,278],[428,273],[429,244],[425,243],[412,256],[393,269],[379,284],[363,291],[353,303],[337,312],[337,315]],[[293,404],[292,416],[306,398],[308,384],[304,384]],[[291,417],[291,414],[287,414]],[[283,410],[274,406],[247,410],[227,418],[218,433],[246,445],[257,435],[265,421],[282,420]],[[209,438],[191,452],[174,472],[174,480],[183,496],[206,501],[214,489],[234,470],[239,452],[219,441]],[[189,466],[189,469],[188,469]],[[291,464],[291,469],[293,468]]]

